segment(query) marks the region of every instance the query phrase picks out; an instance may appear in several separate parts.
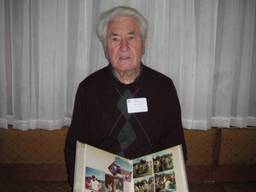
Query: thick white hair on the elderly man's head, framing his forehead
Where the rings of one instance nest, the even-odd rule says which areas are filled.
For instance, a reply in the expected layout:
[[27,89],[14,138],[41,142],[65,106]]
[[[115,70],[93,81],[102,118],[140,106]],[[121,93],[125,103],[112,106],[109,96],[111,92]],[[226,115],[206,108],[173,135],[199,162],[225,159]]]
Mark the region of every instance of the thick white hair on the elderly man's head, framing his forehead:
[[136,19],[139,25],[139,30],[143,36],[143,41],[146,40],[148,35],[148,21],[137,11],[137,9],[120,6],[102,13],[97,26],[97,34],[101,42],[105,43],[106,41],[109,21],[120,17],[131,17]]

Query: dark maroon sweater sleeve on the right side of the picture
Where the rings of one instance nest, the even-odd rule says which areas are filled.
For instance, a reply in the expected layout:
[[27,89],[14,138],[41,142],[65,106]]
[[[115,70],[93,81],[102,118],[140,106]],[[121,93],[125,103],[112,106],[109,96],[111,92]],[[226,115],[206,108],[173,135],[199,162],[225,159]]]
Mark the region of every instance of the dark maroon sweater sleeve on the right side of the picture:
[[184,161],[187,161],[187,147],[184,139],[183,125],[181,118],[181,108],[177,97],[177,91],[172,84],[171,105],[168,109],[168,119],[166,119],[165,129],[161,136],[162,148],[171,148],[182,144]]

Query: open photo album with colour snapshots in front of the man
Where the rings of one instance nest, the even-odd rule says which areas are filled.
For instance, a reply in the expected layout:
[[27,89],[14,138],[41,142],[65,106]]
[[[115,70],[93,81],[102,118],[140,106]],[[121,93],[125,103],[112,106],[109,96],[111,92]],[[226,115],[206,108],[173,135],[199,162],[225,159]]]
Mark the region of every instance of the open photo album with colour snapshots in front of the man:
[[128,160],[77,142],[73,191],[189,191],[182,146]]

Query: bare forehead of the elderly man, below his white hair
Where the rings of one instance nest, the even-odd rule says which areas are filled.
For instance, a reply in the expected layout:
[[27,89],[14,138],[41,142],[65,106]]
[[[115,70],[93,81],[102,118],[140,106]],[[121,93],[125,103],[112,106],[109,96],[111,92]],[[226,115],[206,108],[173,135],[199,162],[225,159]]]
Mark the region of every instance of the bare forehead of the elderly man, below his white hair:
[[131,17],[120,17],[109,21],[107,34],[112,33],[130,33],[130,32],[140,32],[139,25],[136,19]]

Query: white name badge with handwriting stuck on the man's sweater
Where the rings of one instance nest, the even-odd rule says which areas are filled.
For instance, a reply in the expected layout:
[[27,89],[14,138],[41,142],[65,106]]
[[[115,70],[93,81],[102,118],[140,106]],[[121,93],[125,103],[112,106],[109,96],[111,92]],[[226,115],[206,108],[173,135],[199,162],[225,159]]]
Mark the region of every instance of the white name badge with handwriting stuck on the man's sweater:
[[148,111],[146,98],[132,98],[126,100],[128,113],[142,113]]

